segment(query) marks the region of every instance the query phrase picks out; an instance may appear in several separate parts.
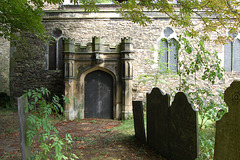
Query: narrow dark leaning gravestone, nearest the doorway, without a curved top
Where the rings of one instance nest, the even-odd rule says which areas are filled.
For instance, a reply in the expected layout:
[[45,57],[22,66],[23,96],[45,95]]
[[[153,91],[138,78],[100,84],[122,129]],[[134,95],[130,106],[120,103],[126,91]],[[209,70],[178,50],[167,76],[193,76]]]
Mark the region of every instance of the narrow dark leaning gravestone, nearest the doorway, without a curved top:
[[133,120],[134,120],[135,137],[138,140],[140,140],[142,143],[145,143],[146,136],[145,136],[142,101],[133,101]]

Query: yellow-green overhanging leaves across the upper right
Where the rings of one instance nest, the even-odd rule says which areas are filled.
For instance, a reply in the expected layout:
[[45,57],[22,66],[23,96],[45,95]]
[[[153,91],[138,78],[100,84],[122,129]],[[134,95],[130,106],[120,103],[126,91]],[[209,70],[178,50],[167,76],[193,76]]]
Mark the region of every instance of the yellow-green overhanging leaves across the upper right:
[[152,20],[143,11],[157,10],[169,16],[172,25],[187,29],[191,36],[199,36],[198,24],[192,21],[192,17],[198,17],[203,24],[202,32],[205,35],[217,32],[217,41],[222,43],[231,37],[226,37],[219,31],[224,29],[236,33],[240,25],[240,2],[238,0],[126,0],[122,3],[118,1],[115,2],[121,6],[118,12],[128,20],[147,25]]

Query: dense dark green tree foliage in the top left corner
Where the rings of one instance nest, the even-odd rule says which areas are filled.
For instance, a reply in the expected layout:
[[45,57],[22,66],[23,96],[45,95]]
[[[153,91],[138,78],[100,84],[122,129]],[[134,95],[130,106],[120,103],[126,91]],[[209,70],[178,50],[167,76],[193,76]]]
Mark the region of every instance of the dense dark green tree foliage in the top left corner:
[[20,31],[30,31],[43,37],[45,29],[40,22],[44,1],[1,0],[0,37],[17,38],[14,32]]

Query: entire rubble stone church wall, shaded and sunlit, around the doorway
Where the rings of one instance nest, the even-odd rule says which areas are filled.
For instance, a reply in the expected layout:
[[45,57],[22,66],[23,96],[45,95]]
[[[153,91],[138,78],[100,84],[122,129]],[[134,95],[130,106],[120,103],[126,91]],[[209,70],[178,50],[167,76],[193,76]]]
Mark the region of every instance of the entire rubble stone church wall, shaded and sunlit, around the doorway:
[[[159,45],[159,40],[162,38],[166,27],[170,27],[175,36],[182,32],[181,29],[171,26],[168,17],[165,15],[157,12],[151,13],[151,15],[153,17],[151,24],[139,26],[122,19],[119,14],[114,13],[111,9],[103,9],[103,11],[95,14],[66,6],[64,10],[46,11],[43,23],[49,33],[58,28],[62,31],[63,37],[74,38],[75,42],[82,45],[91,42],[94,36],[102,37],[105,43],[110,45],[120,43],[120,39],[123,37],[131,37],[133,39],[133,51],[135,52],[132,55],[135,59],[133,61],[133,100],[143,100],[145,93],[153,87],[153,82],[148,81],[146,84],[142,84],[139,81],[139,75],[150,73],[156,69],[156,66],[146,64],[145,59],[156,60],[158,58],[158,54],[151,48],[156,48]],[[199,20],[193,18],[193,21],[201,30]],[[211,35],[212,38],[214,36]],[[46,86],[61,95],[64,89],[63,73],[62,71],[46,69],[46,44],[28,34],[26,38],[27,46],[21,43],[15,43],[15,46],[12,46],[12,49],[16,48],[11,56],[11,95],[17,97],[22,94],[23,90],[39,86]],[[211,44],[209,48],[216,49],[219,52],[219,57],[223,59],[222,45]],[[213,87],[223,90],[235,78],[240,78],[238,73],[226,73],[224,79],[217,82]],[[174,88],[179,83],[177,77],[163,77],[163,80],[165,80],[165,83],[162,83],[159,87],[168,93],[170,93],[169,88]],[[204,83],[202,85],[205,85]]]

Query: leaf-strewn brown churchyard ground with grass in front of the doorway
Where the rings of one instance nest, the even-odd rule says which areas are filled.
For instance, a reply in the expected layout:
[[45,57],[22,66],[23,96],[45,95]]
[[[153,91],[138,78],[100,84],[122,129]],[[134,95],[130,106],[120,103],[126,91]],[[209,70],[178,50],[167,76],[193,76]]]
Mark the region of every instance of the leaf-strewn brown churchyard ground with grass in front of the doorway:
[[[12,110],[0,110],[0,159],[21,159],[18,114]],[[134,138],[133,120],[117,121],[84,119],[66,121],[52,118],[61,136],[70,133],[73,139],[69,151],[78,159],[119,160],[144,159],[162,160],[154,150],[137,142]],[[38,149],[34,143],[32,151]],[[68,153],[66,153],[67,155]]]

